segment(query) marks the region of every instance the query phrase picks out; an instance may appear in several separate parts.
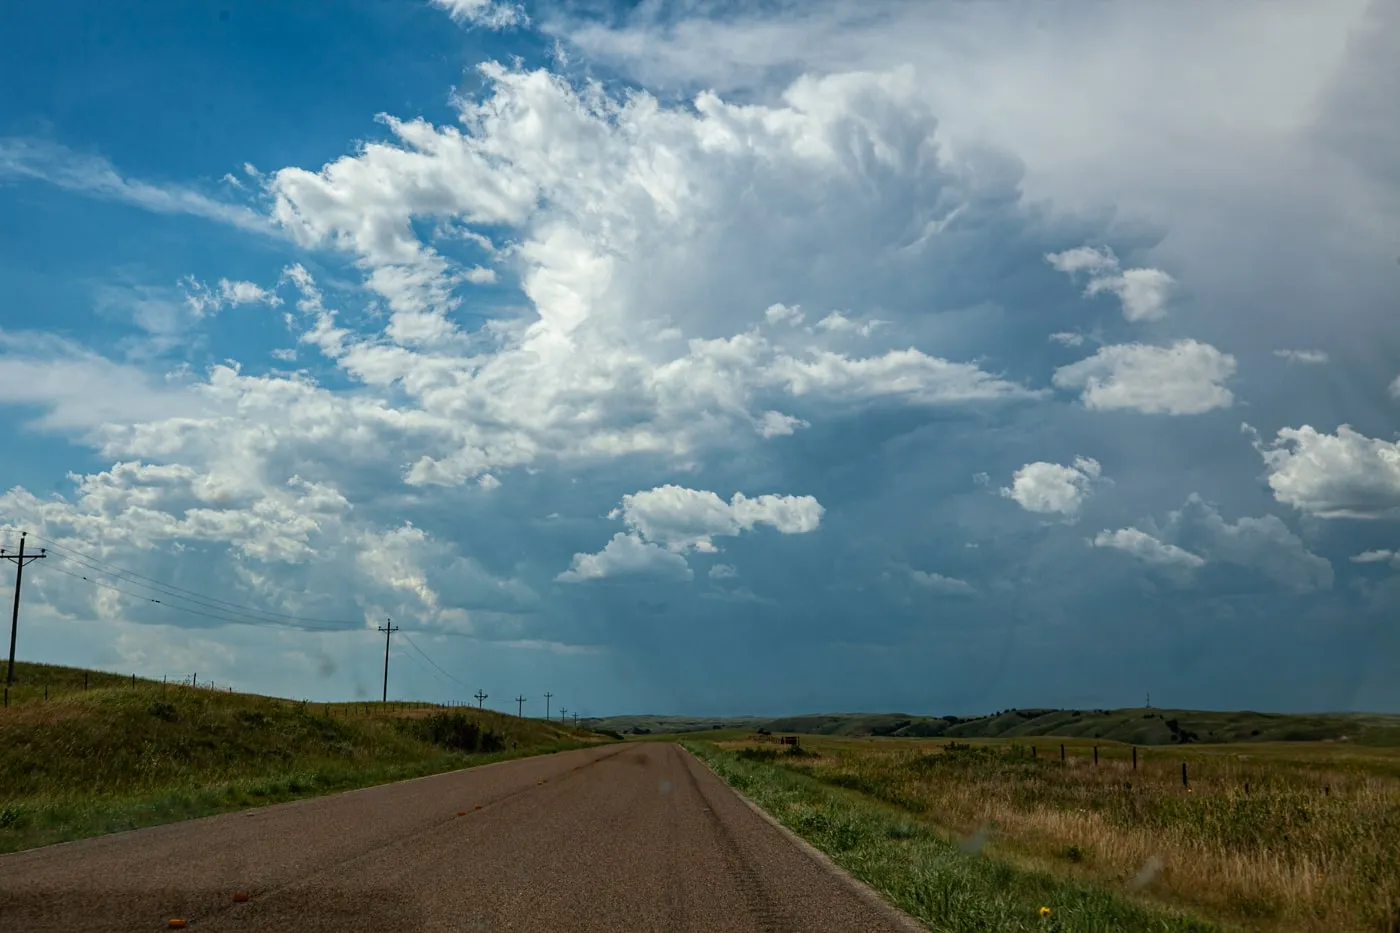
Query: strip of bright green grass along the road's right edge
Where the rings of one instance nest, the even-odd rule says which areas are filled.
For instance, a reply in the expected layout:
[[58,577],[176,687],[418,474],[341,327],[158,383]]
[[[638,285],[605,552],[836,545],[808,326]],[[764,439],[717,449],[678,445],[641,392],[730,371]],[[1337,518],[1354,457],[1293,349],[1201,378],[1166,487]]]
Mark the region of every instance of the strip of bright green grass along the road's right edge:
[[[948,933],[1154,933],[1215,926],[1134,902],[1102,885],[1028,870],[966,850],[897,807],[780,766],[787,754],[686,748],[725,782],[931,930]],[[1040,908],[1050,908],[1040,916]]]

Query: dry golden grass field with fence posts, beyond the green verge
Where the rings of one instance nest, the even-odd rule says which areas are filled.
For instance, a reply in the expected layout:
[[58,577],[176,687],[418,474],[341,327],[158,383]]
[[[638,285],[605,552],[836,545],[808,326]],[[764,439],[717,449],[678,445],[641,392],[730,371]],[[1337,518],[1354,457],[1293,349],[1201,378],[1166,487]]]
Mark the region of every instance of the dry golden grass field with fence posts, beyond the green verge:
[[[738,747],[742,742],[725,742]],[[776,761],[899,806],[987,853],[1257,930],[1400,929],[1400,754],[1347,745],[949,751],[808,740]],[[1187,763],[1190,787],[1182,785]],[[1247,790],[1246,790],[1247,787]],[[1152,876],[1141,884],[1145,866]],[[1137,884],[1134,884],[1137,881]]]

